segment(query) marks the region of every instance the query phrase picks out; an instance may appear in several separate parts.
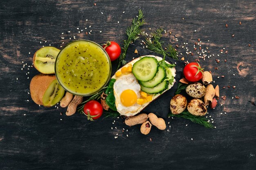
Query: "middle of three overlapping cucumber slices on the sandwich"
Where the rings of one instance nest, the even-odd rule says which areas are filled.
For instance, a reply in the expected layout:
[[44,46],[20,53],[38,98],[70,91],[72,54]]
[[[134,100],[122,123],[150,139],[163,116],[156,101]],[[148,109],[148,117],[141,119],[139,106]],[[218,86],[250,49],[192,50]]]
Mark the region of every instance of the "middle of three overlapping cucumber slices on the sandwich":
[[144,87],[155,87],[159,83],[162,83],[166,78],[166,71],[162,66],[158,67],[158,72],[155,77],[150,81],[139,81],[139,84],[143,85]]

